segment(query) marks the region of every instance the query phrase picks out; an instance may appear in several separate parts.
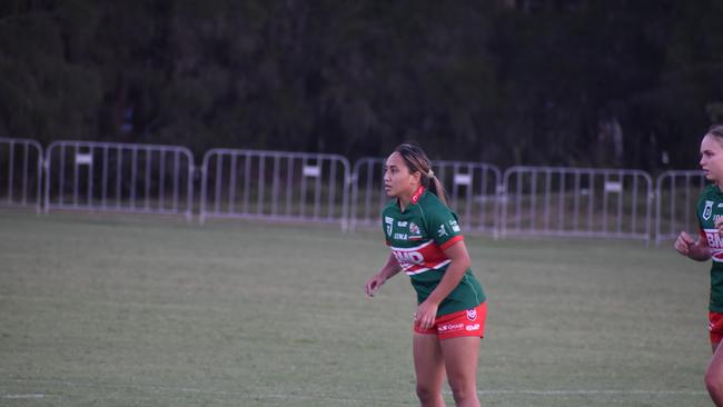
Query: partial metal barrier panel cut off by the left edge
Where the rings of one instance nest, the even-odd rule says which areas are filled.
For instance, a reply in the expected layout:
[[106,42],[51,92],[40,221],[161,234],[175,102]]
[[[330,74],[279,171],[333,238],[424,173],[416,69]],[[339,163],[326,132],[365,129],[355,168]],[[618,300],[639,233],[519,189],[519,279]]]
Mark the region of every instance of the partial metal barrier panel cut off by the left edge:
[[42,202],[42,147],[30,139],[0,138],[0,206],[34,207]]

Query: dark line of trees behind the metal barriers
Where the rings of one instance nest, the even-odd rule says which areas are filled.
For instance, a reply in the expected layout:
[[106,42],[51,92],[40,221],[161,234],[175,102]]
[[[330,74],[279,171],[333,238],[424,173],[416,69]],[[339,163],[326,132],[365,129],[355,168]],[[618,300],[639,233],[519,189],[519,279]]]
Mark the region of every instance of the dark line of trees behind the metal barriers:
[[6,0],[0,137],[660,171],[723,120],[720,0]]

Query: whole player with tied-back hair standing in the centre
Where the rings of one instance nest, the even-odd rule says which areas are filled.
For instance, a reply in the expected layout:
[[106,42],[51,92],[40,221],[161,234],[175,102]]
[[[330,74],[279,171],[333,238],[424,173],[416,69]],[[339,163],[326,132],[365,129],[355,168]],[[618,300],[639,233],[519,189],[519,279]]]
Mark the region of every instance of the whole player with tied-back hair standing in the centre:
[[366,294],[374,296],[402,270],[410,277],[418,304],[413,355],[420,405],[444,406],[446,374],[455,404],[477,407],[477,358],[487,308],[469,269],[457,216],[418,146],[404,143],[387,158],[384,187],[393,198],[382,214],[392,254],[367,280]]

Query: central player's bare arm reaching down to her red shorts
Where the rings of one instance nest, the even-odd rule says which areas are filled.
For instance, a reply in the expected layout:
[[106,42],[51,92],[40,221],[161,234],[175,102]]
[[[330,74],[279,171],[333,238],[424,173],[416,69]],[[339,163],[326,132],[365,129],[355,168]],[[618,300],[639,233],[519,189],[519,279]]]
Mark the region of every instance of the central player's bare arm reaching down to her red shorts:
[[462,239],[457,240],[443,251],[452,262],[447,266],[447,270],[437,287],[429,294],[429,297],[427,297],[424,302],[419,304],[419,307],[417,308],[415,319],[423,329],[428,329],[434,325],[439,304],[459,285],[465,271],[472,265],[469,254],[467,252],[467,246],[465,246],[465,242]]

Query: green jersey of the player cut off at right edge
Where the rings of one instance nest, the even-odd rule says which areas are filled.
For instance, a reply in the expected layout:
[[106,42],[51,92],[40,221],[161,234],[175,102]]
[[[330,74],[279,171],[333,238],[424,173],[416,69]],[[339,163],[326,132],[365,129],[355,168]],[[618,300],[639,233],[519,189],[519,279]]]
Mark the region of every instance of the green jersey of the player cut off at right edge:
[[707,186],[697,200],[696,210],[701,239],[711,248],[711,304],[709,309],[723,312],[723,238],[715,220],[723,217],[723,192],[716,185]]

